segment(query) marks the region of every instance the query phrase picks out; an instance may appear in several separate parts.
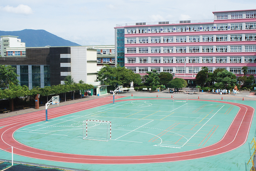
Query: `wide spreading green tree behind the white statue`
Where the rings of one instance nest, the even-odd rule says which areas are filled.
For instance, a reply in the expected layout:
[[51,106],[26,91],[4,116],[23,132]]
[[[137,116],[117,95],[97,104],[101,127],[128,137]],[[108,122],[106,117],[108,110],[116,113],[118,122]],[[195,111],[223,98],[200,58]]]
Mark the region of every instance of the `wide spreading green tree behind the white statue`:
[[119,65],[117,67],[103,65],[98,73],[98,80],[100,80],[102,84],[112,85],[116,88],[118,85],[129,84],[132,81],[134,84],[139,84],[141,83],[141,76]]

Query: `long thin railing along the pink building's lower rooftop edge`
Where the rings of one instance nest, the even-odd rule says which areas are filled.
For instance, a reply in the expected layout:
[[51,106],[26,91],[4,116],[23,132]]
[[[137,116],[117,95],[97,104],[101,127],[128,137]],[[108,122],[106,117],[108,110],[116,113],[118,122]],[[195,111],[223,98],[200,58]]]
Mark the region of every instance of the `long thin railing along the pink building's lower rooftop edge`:
[[126,24],[116,24],[116,27],[125,27],[125,26],[145,26],[145,25],[158,25],[158,24],[183,24],[183,23],[210,23],[214,19],[206,20],[185,20],[185,21],[160,21],[160,22],[141,22],[141,23],[126,23]]

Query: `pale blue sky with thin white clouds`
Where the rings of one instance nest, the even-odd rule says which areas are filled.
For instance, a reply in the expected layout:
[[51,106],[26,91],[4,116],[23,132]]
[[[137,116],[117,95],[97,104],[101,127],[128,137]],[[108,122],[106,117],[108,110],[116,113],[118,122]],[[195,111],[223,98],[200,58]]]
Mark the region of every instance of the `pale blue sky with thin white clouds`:
[[115,45],[116,24],[213,19],[213,11],[256,9],[256,0],[1,0],[0,2],[1,31],[43,29],[82,46]]

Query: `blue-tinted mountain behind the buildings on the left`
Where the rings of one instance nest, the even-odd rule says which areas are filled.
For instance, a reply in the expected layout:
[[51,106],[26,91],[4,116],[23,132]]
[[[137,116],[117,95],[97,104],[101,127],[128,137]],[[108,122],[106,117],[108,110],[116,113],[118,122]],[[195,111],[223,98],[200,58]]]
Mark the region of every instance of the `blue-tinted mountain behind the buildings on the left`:
[[44,46],[81,46],[69,40],[62,39],[45,30],[24,29],[21,31],[0,31],[0,36],[18,36],[26,47]]

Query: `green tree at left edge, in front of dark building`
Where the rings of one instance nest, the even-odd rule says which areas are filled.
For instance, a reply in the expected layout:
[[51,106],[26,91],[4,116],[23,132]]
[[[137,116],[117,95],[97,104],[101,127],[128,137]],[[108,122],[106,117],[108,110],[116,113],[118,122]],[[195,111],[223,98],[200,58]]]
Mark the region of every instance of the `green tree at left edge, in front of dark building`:
[[13,83],[13,85],[18,85],[18,76],[19,75],[15,73],[15,68],[13,68],[11,65],[0,65],[0,88],[9,88],[10,83]]

